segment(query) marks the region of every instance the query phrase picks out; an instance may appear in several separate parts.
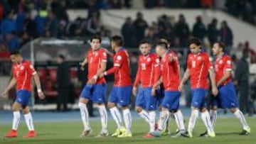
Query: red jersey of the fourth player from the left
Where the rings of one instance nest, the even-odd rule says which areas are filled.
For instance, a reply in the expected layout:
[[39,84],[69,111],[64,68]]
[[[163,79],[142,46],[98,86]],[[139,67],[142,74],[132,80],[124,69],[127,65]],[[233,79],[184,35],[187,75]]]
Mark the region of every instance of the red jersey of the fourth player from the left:
[[139,82],[142,83],[142,87],[152,87],[154,84],[154,67],[159,64],[159,58],[155,54],[149,54],[144,57],[139,56],[138,70],[134,87],[137,87]]

